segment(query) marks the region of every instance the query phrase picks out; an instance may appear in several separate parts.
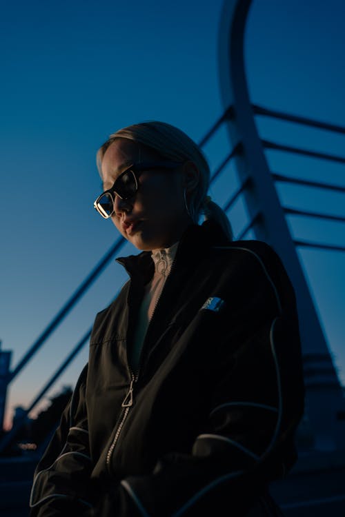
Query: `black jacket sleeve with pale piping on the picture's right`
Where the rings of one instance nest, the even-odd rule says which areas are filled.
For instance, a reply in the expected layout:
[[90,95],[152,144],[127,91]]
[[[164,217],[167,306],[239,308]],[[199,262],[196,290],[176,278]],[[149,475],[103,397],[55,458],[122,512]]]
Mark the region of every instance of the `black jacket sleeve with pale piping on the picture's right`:
[[92,516],[223,515],[224,501],[226,515],[244,515],[295,463],[304,383],[293,288],[264,243],[244,250],[243,271],[235,310],[226,301],[219,312],[203,309],[217,328],[219,361],[210,413],[190,454],[171,452],[152,474],[121,480]]

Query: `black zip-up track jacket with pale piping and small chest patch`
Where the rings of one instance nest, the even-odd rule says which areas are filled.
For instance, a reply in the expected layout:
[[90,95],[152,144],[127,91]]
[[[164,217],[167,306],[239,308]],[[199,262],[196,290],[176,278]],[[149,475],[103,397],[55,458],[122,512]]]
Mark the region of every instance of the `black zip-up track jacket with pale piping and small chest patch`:
[[83,369],[35,473],[32,517],[241,516],[296,460],[304,385],[295,296],[260,241],[188,228],[127,361],[150,253],[97,314]]

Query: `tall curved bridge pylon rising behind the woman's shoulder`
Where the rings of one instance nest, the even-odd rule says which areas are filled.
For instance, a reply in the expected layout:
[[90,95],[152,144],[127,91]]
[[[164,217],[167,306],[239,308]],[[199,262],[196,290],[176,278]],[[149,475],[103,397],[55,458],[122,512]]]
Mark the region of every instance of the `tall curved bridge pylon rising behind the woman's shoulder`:
[[266,241],[281,257],[295,287],[306,382],[306,414],[313,429],[315,449],[345,448],[344,397],[331,354],[315,311],[302,266],[290,236],[257,133],[244,70],[244,28],[251,0],[224,0],[219,29],[219,75],[224,108],[232,106],[227,121],[232,145],[241,143],[235,156],[257,239]]

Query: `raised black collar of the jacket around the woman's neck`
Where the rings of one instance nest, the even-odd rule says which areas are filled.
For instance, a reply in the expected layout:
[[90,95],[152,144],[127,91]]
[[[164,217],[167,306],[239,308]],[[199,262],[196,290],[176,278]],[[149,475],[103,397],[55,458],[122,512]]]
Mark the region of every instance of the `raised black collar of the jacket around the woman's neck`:
[[[205,254],[215,245],[227,245],[229,243],[220,225],[212,219],[204,221],[201,225],[190,225],[181,236],[177,248],[175,263],[189,263],[195,261],[199,254]],[[141,279],[148,283],[155,272],[155,265],[151,258],[151,252],[141,252],[137,255],[119,257],[118,263],[126,268],[131,278]]]

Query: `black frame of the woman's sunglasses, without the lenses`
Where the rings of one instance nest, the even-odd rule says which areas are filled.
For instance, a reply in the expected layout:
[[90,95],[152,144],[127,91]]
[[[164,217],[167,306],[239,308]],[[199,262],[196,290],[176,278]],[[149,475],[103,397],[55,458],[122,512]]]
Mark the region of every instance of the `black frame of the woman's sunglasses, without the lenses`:
[[[112,209],[111,214],[105,215],[105,212],[103,212],[101,207],[99,207],[99,200],[101,199],[102,196],[104,196],[104,194],[108,194],[110,196],[110,199],[112,201],[112,205],[114,205],[114,203],[115,203],[115,196],[118,196],[119,199],[122,199],[123,201],[127,201],[128,199],[134,197],[135,194],[137,194],[137,191],[138,191],[138,188],[139,188],[138,179],[139,179],[139,176],[143,172],[145,172],[147,170],[155,170],[155,169],[175,169],[179,165],[181,165],[182,163],[184,163],[184,162],[181,162],[181,161],[168,161],[167,160],[167,161],[159,161],[159,162],[155,161],[155,162],[146,162],[146,163],[135,163],[133,165],[130,165],[130,167],[128,167],[126,170],[124,170],[124,172],[121,172],[121,174],[119,174],[119,176],[115,180],[115,182],[112,185],[112,187],[110,187],[108,190],[104,190],[104,192],[99,194],[99,196],[97,197],[95,203],[93,203],[93,206],[95,207],[97,212],[103,217],[103,219],[109,219],[112,216],[112,214],[114,213],[114,208]],[[132,196],[124,197],[124,196],[121,196],[117,192],[116,184],[121,179],[121,177],[124,176],[124,174],[128,174],[128,172],[132,173],[132,176],[133,176],[133,178],[135,180],[135,192],[134,192],[134,194],[132,194]],[[165,172],[165,171],[161,170],[161,172]],[[114,194],[115,194],[115,196],[114,196]]]

